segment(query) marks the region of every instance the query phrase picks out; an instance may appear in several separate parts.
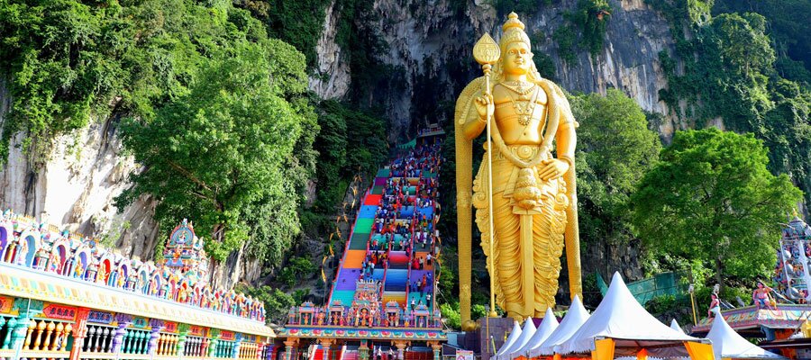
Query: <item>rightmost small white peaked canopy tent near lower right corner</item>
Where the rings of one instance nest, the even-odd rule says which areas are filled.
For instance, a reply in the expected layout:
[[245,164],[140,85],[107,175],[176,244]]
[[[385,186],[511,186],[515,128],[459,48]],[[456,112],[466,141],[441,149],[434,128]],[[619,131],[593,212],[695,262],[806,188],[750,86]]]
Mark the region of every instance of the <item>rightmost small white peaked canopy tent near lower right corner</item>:
[[716,360],[722,358],[786,359],[786,357],[766,351],[738,335],[718,311],[715,311],[713,327],[706,334],[706,338],[713,342],[713,352]]

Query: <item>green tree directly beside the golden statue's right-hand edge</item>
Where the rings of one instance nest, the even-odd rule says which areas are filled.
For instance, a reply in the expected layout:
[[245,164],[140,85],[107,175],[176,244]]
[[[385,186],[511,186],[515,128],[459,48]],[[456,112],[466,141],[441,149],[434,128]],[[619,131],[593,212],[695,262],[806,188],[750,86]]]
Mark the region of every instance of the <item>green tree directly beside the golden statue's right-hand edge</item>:
[[633,99],[616,89],[606,96],[571,96],[578,128],[580,237],[591,244],[633,238],[628,202],[659,158],[661,144]]

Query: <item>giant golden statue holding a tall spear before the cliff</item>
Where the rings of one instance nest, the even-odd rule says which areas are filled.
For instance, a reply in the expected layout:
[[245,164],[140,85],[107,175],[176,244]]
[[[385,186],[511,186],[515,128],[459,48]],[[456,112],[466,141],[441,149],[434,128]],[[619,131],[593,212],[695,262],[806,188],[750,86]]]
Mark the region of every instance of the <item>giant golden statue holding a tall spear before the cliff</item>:
[[[485,34],[474,48],[485,76],[462,91],[454,119],[460,315],[468,329],[471,204],[488,256],[491,293],[507,315],[541,318],[554,307],[564,238],[570,295],[581,293],[574,168],[578,123],[560,88],[538,74],[518,15],[509,14],[502,29],[500,44]],[[491,119],[495,122],[488,126]],[[485,157],[471,184],[472,139],[486,128]]]

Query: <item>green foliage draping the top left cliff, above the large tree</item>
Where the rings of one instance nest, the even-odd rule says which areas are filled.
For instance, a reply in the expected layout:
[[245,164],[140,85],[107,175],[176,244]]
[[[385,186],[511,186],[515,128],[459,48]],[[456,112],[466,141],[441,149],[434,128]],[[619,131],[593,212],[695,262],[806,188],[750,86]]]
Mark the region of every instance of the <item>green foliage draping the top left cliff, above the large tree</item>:
[[22,131],[34,164],[47,159],[55,136],[93,118],[153,116],[187,94],[212,53],[267,39],[247,11],[193,0],[0,0],[0,33],[0,70],[13,99],[0,163]]

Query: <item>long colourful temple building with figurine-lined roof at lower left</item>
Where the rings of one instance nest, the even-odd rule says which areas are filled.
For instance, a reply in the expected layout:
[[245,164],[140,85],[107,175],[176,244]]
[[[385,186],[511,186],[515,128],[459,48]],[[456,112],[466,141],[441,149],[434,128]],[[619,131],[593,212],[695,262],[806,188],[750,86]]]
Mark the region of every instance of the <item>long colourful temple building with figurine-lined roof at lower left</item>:
[[0,218],[0,359],[264,359],[264,305],[208,284],[203,241],[172,231],[158,265],[31,217]]

